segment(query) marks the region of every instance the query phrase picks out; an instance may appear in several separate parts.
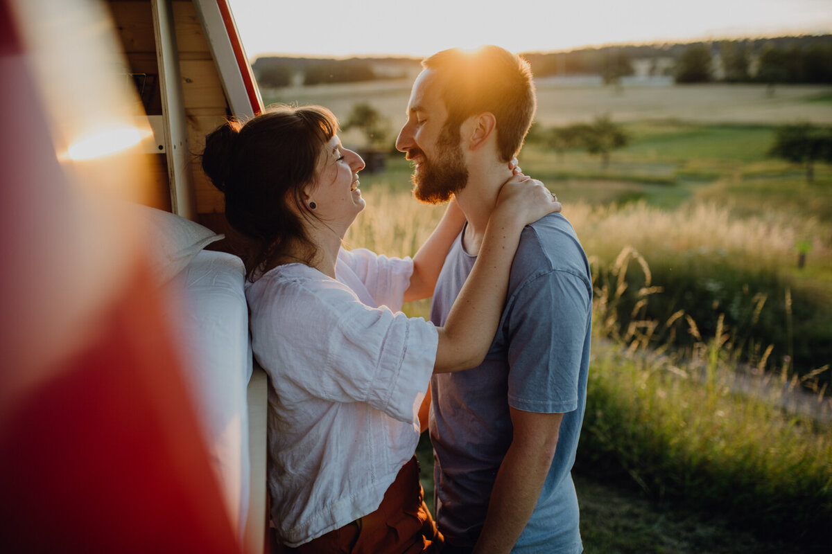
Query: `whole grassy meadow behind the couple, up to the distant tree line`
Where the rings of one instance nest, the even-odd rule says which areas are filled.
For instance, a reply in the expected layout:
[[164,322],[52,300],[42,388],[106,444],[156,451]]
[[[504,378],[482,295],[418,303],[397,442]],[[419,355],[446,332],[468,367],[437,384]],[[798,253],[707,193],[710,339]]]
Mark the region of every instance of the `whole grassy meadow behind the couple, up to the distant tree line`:
[[[832,92],[538,89],[543,127],[607,113],[629,137],[607,165],[532,142],[520,156],[557,192],[592,263],[575,465],[586,552],[827,552],[832,166],[816,164],[810,184],[802,165],[766,151],[777,125],[832,124]],[[377,94],[392,130],[407,90],[267,101],[331,105],[344,118]],[[384,171],[361,175],[368,208],[349,247],[415,252],[443,208],[412,199],[409,174],[391,153]],[[428,303],[406,311],[427,316]],[[419,453],[430,496],[426,439]]]

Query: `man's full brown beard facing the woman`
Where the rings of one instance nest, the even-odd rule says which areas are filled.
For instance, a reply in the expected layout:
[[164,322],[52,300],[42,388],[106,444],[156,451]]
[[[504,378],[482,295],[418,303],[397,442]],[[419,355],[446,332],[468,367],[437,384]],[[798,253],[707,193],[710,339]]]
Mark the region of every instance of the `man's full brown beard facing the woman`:
[[[453,136],[456,135],[456,136]],[[428,160],[422,152],[423,163],[411,180],[414,196],[424,203],[448,202],[468,184],[468,169],[463,163],[463,150],[459,147],[459,132],[453,133],[447,127],[436,141],[437,154]]]

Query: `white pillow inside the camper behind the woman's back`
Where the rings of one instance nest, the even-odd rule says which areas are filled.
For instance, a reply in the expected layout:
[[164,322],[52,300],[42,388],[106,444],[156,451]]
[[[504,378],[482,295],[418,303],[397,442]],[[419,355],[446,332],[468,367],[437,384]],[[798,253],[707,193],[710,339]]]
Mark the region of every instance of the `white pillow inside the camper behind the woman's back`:
[[203,248],[225,237],[175,213],[133,205],[143,226],[151,270],[160,284],[176,277]]

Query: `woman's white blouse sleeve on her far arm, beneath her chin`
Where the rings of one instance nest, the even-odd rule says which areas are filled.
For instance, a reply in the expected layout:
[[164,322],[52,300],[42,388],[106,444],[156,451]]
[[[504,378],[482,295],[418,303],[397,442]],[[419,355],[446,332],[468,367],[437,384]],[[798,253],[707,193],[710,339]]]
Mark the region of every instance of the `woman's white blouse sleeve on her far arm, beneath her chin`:
[[366,248],[341,249],[339,259],[349,265],[378,306],[400,311],[410,286],[414,262],[410,257],[387,257]]

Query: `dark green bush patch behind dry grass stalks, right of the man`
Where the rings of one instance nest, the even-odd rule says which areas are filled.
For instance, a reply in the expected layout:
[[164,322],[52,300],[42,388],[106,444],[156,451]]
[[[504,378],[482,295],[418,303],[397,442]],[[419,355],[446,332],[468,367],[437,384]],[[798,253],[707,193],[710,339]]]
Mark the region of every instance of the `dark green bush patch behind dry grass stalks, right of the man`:
[[[720,329],[735,363],[800,376],[832,361],[832,302],[821,292],[721,248],[646,256],[641,269],[630,263],[636,257],[594,268],[602,286],[617,289],[615,336],[690,351]],[[818,385],[830,377],[823,371]]]

